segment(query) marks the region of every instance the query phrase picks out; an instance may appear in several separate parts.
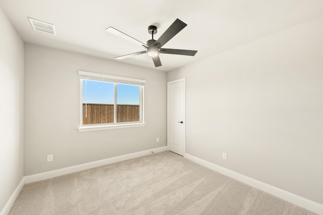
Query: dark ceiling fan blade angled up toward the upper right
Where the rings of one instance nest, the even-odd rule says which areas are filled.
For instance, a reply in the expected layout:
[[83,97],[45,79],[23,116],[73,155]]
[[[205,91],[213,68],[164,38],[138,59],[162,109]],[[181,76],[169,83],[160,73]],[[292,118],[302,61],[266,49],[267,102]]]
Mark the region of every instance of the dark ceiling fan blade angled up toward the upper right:
[[[172,39],[178,32],[185,28],[187,24],[182,22],[179,19],[176,19],[175,22],[164,32],[163,35],[153,44],[155,47],[163,47],[170,39]],[[158,45],[159,44],[159,45]]]

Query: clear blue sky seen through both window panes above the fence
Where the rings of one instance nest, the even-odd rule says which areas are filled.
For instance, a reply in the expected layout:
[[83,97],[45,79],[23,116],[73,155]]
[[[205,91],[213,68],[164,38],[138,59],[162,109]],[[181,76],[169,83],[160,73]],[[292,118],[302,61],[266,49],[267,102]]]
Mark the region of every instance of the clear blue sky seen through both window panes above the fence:
[[[83,103],[114,104],[114,84],[83,80]],[[139,105],[139,86],[117,84],[117,104]]]

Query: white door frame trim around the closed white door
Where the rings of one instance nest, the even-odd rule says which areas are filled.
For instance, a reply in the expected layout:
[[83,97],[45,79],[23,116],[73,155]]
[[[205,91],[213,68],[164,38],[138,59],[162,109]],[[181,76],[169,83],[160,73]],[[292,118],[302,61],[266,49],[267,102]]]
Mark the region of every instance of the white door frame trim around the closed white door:
[[169,93],[169,86],[171,84],[174,83],[178,83],[178,82],[183,82],[183,157],[185,157],[185,148],[186,148],[186,78],[182,78],[182,79],[177,79],[174,81],[170,81],[167,82],[167,150],[169,151],[169,111],[170,111],[170,103],[169,103],[169,99],[170,99],[170,93]]

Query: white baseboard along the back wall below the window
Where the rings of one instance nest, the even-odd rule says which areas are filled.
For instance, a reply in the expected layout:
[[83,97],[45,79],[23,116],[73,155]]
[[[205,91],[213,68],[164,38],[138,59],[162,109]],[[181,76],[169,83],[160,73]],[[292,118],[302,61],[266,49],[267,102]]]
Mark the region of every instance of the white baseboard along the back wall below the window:
[[35,175],[29,175],[29,176],[24,177],[25,183],[28,184],[28,183],[41,181],[41,180],[45,180],[45,179],[49,179],[49,178],[53,178],[53,177],[57,177],[57,176],[61,176],[61,175],[79,172],[82,170],[87,170],[87,169],[91,169],[91,168],[95,168],[95,167],[99,167],[99,166],[104,166],[107,164],[113,164],[113,163],[120,162],[120,161],[138,158],[138,157],[142,157],[145,155],[149,155],[149,154],[151,154],[151,152],[158,153],[158,152],[163,152],[163,151],[167,151],[167,147],[160,147],[160,148],[155,148],[155,149],[151,149],[151,150],[145,150],[145,151],[141,151],[141,152],[131,153],[128,155],[121,155],[121,156],[117,156],[117,157],[113,157],[113,158],[107,158],[107,159],[103,159],[103,160],[99,160],[99,161],[89,162],[86,164],[80,164],[80,165],[76,165],[76,166],[72,166],[72,167],[66,167],[66,168],[62,168],[62,169],[58,169],[58,170],[52,170],[52,171],[43,172],[43,173],[39,173],[39,174],[35,174]]

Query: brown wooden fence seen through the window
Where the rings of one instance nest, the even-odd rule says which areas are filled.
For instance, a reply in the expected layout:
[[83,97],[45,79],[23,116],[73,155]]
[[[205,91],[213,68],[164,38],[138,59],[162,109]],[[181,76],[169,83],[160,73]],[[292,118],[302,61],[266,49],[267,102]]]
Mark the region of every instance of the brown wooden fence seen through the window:
[[[113,118],[113,104],[87,104],[85,110],[83,103],[83,125],[113,123]],[[139,121],[139,105],[117,105],[117,122],[136,121]]]

